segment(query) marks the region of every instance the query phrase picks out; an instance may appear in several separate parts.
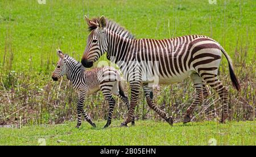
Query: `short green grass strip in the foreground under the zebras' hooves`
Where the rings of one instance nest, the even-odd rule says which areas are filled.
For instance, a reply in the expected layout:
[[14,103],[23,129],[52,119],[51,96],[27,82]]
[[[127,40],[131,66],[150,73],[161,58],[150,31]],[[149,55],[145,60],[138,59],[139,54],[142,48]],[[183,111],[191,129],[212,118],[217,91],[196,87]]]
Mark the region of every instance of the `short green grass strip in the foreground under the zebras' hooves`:
[[214,138],[217,145],[255,145],[255,121],[198,122],[169,126],[166,122],[137,121],[133,127],[117,127],[114,121],[108,129],[97,122],[93,128],[75,122],[61,125],[26,126],[22,129],[0,128],[0,145],[39,145],[40,138],[46,145],[208,145]]

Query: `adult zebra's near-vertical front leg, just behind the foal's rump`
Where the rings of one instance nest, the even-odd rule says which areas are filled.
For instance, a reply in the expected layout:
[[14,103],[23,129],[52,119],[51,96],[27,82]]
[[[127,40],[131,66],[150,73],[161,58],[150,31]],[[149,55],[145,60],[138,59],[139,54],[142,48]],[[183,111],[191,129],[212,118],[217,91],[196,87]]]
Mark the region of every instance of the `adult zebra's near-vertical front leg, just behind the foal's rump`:
[[131,102],[130,102],[130,109],[128,112],[128,116],[124,122],[121,123],[122,126],[126,126],[130,123],[134,117],[134,110],[136,105],[138,104],[139,99],[139,90],[141,89],[141,81],[131,81],[130,82],[130,88],[131,88]]

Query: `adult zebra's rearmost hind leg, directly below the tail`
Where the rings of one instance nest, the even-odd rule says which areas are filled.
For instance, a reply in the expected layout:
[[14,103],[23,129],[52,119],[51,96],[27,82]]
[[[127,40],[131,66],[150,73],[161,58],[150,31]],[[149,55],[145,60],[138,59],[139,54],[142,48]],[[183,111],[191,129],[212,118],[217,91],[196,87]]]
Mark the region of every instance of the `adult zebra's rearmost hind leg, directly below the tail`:
[[212,77],[205,77],[204,80],[218,93],[221,98],[223,105],[220,122],[225,123],[225,119],[228,118],[228,89],[226,89],[226,87],[222,85],[221,81],[218,80],[217,75]]

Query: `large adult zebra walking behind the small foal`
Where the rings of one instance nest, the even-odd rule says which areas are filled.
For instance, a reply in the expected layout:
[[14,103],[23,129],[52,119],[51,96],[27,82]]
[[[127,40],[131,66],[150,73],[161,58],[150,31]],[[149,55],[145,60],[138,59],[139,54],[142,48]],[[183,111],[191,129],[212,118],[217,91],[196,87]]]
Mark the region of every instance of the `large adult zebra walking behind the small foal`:
[[[170,125],[172,117],[160,110],[153,100],[150,79],[143,79],[143,71],[147,66],[145,61],[158,63],[153,80],[159,84],[171,84],[191,77],[196,90],[196,98],[187,109],[183,123],[191,121],[191,114],[197,105],[208,97],[207,84],[213,88],[222,101],[222,115],[220,122],[228,118],[228,89],[218,79],[222,53],[228,60],[230,78],[233,86],[240,90],[240,84],[228,53],[215,40],[204,35],[186,35],[171,39],[135,39],[125,28],[112,20],[101,18],[88,19],[90,34],[82,55],[81,63],[84,67],[92,67],[105,52],[107,58],[118,65],[125,79],[130,82],[131,100],[129,114],[121,126],[127,126],[134,115],[138,102],[139,89],[143,88],[148,106],[165,119]],[[155,74],[155,75],[154,75]]]

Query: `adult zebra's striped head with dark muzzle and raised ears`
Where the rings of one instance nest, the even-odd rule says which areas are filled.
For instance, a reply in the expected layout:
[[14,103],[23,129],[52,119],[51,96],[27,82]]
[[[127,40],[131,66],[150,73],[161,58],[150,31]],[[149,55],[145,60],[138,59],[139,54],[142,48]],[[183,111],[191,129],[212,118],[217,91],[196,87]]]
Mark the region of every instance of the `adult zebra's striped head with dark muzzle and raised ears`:
[[85,19],[89,26],[90,34],[87,39],[84,55],[82,55],[81,63],[84,67],[90,68],[93,66],[93,63],[108,50],[105,38],[106,19],[104,16],[101,16],[100,19],[93,20],[89,20],[85,16]]

